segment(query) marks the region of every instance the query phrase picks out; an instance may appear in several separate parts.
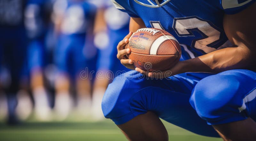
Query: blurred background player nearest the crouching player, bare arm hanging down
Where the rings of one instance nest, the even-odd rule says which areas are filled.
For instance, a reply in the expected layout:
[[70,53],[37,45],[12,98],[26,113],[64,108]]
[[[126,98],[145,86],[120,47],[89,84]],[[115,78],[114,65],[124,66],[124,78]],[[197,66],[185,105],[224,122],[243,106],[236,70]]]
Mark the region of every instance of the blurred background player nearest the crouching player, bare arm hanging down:
[[97,76],[92,91],[92,117],[100,120],[101,100],[108,84],[116,75],[128,71],[116,58],[116,46],[122,36],[129,31],[130,18],[126,13],[117,10],[111,1],[91,1],[97,5],[95,19],[94,44],[99,49],[97,59]]

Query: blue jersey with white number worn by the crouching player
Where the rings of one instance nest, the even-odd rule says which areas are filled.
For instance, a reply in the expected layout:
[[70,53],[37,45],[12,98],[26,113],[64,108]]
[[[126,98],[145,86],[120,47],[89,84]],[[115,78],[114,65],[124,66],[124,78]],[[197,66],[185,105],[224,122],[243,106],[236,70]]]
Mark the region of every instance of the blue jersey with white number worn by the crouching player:
[[112,2],[131,17],[141,18],[147,27],[171,33],[184,44],[181,60],[186,60],[232,46],[223,29],[223,16],[238,13],[255,0],[171,0],[159,8],[145,7],[133,0]]

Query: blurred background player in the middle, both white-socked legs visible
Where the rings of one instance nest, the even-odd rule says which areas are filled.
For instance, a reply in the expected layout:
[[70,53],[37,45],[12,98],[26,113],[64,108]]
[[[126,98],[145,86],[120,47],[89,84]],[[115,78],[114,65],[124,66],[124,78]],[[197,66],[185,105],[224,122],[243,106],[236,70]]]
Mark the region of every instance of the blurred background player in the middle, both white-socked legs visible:
[[57,0],[55,6],[58,9],[55,13],[55,30],[59,37],[54,55],[58,67],[54,109],[59,119],[65,119],[73,106],[71,88],[74,87],[77,93],[79,113],[86,115],[91,105],[90,77],[81,79],[80,72],[86,67],[90,70],[88,55],[93,58],[96,54],[93,45],[87,40],[93,34],[96,8],[84,0]]

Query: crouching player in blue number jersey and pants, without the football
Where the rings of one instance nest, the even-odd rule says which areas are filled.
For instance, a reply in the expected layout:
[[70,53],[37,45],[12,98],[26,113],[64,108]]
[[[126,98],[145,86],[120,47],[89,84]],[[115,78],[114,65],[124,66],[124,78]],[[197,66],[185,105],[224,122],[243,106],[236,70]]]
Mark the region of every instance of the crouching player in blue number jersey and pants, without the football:
[[[132,71],[108,85],[106,118],[129,140],[168,140],[159,118],[204,136],[255,140],[255,0],[112,2],[131,17],[117,57]],[[164,29],[184,44],[172,74],[145,72],[125,57],[132,32],[145,27]]]

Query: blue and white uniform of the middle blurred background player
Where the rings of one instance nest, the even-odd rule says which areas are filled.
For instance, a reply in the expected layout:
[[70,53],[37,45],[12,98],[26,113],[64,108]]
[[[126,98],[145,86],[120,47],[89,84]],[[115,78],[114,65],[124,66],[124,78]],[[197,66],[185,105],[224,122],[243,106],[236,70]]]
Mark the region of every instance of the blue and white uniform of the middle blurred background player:
[[95,13],[96,8],[92,4],[68,1],[54,55],[60,72],[68,72],[74,76],[85,67],[93,70],[95,62],[93,63],[92,58],[96,51],[92,43],[86,43],[86,38],[87,31],[92,29]]

